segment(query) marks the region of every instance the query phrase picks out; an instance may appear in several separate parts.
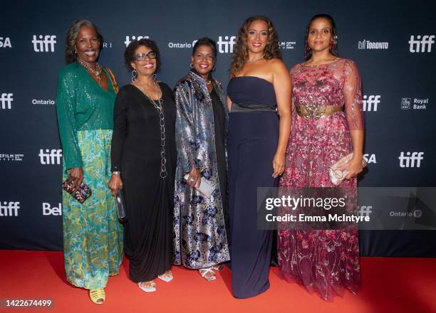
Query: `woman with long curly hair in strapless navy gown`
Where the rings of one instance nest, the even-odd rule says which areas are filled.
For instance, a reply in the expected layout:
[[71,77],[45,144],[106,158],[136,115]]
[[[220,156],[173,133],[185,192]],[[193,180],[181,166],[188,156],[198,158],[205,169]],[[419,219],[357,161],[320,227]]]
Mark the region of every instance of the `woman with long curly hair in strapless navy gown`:
[[257,229],[257,188],[277,186],[291,131],[291,79],[269,18],[239,29],[227,87],[229,211],[233,295],[269,288],[272,230]]

